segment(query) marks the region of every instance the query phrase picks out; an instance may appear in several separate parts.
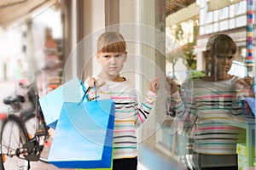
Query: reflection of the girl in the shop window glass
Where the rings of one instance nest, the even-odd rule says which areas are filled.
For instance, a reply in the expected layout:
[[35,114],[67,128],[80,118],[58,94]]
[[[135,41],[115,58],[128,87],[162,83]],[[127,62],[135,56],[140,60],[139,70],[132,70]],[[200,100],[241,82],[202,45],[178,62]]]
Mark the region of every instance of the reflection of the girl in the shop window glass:
[[[237,169],[236,142],[238,127],[230,125],[233,115],[241,115],[239,99],[248,95],[247,78],[232,76],[230,71],[236,43],[224,34],[209,38],[206,59],[211,60],[211,75],[194,80],[191,108],[184,109],[176,84],[169,78],[172,100],[176,100],[177,114],[194,123],[199,169]],[[250,82],[250,81],[248,81]],[[194,120],[194,121],[193,121]],[[194,162],[195,163],[195,162]]]

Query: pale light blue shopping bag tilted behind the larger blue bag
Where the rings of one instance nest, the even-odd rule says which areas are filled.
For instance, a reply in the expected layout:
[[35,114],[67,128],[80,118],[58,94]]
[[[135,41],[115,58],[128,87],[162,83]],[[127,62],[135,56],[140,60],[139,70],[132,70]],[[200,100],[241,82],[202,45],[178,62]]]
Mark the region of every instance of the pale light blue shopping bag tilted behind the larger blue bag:
[[78,77],[64,83],[39,99],[46,125],[55,129],[63,102],[79,102],[84,96],[83,84]]

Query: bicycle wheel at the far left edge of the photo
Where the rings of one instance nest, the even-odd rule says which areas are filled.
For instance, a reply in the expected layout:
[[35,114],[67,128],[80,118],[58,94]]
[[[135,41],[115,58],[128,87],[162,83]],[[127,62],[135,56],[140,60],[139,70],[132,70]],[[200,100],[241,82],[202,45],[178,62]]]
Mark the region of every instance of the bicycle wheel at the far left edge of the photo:
[[26,129],[20,118],[15,115],[9,115],[3,122],[1,130],[1,169],[29,169],[29,161],[26,161],[22,154],[19,156],[13,154],[18,148],[22,148],[22,144],[25,144],[28,140]]

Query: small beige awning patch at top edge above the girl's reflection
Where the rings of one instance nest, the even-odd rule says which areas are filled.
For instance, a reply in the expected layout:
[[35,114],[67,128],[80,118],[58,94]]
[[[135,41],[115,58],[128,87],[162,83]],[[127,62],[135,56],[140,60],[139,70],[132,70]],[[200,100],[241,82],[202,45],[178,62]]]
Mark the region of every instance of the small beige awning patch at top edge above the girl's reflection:
[[218,10],[220,8],[228,7],[231,4],[239,3],[241,0],[209,0],[208,2],[208,11]]

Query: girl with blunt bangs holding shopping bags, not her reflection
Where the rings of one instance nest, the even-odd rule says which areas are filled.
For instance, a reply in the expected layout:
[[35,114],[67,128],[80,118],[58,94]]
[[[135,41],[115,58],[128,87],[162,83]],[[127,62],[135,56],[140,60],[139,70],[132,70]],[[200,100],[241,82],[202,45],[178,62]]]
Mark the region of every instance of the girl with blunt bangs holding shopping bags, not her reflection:
[[146,98],[139,107],[133,83],[119,74],[126,58],[124,37],[113,31],[103,33],[98,38],[96,53],[102,71],[84,82],[85,87],[90,88],[96,83],[97,96],[90,95],[90,99],[111,98],[115,103],[113,170],[137,169],[136,128],[148,118],[160,86],[160,77],[150,82]]

